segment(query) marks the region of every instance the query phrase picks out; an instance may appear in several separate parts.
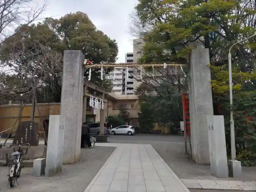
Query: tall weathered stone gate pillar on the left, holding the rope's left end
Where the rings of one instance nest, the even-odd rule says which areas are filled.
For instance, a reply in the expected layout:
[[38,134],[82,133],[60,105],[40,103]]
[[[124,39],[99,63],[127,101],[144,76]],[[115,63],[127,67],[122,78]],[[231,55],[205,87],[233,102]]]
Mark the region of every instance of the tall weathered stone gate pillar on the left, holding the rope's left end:
[[65,116],[63,163],[80,160],[83,109],[83,61],[80,50],[65,50],[60,114]]

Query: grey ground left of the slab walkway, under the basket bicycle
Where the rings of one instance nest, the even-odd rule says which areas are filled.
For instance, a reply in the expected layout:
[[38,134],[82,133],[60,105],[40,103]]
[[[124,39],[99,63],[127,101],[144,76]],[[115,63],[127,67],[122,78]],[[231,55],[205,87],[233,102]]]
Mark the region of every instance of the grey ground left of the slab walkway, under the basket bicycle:
[[64,165],[54,177],[33,177],[32,169],[24,167],[18,179],[19,187],[7,187],[8,167],[0,167],[0,191],[3,192],[84,192],[115,147],[93,147],[81,150],[81,161]]

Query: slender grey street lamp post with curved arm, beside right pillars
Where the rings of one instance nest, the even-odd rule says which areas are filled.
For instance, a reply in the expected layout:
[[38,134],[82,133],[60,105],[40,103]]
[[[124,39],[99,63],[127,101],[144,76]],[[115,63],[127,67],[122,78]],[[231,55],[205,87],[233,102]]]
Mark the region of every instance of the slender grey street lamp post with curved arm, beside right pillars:
[[229,99],[230,99],[230,144],[231,144],[231,159],[236,159],[236,142],[235,142],[235,126],[234,126],[234,118],[233,118],[233,89],[232,89],[232,67],[231,67],[231,49],[234,45],[245,41],[249,38],[255,37],[256,33],[250,37],[247,37],[245,39],[242,39],[241,41],[236,42],[233,44],[229,49]]

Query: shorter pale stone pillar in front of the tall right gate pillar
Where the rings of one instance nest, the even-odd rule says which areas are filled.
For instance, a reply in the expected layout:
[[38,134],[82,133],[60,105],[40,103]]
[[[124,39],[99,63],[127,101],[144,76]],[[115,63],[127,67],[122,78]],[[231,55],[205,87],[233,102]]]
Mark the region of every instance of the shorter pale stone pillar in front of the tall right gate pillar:
[[224,117],[207,116],[211,173],[215,177],[229,177]]

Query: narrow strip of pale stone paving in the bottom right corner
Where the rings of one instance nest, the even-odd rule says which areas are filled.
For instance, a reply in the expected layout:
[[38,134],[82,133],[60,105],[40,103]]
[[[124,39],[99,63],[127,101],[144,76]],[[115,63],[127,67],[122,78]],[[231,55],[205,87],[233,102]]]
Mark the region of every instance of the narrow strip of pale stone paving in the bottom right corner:
[[191,189],[219,189],[219,190],[244,190],[255,191],[256,182],[252,181],[221,181],[221,180],[199,180],[181,179],[186,187]]

